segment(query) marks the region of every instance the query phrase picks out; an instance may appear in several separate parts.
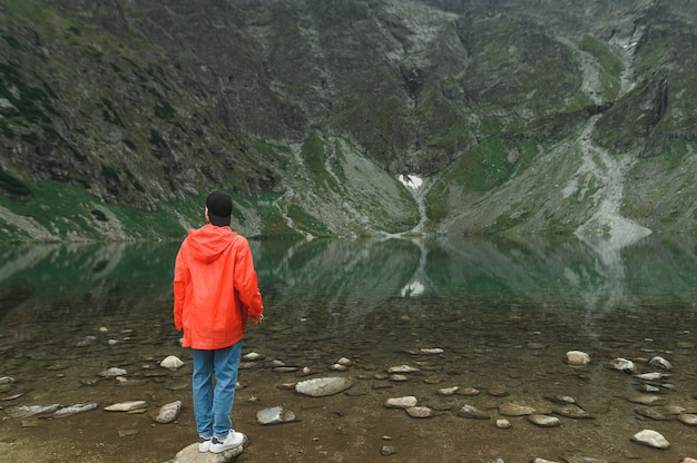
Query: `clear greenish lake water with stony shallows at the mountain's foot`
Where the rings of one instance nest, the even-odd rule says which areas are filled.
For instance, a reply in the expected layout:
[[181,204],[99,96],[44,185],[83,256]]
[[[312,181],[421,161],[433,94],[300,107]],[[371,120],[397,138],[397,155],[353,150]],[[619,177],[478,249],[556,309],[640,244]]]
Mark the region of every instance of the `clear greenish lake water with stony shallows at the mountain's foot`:
[[[357,416],[352,418],[356,427],[347,432],[348,437],[340,433],[355,445],[333,442],[336,432],[325,439],[322,430],[312,430],[307,432],[316,435],[300,452],[302,459],[297,450],[272,445],[256,449],[256,454],[252,446],[249,455],[256,457],[249,460],[268,461],[263,460],[268,456],[264,452],[271,452],[276,457],[285,455],[283,461],[359,461],[332,460],[331,455],[343,452],[370,461],[365,455],[380,459],[380,449],[391,445],[400,461],[419,461],[411,432],[429,436],[429,451],[435,452],[430,455],[440,454],[435,461],[697,457],[697,427],[662,407],[676,405],[684,414],[697,413],[694,238],[649,236],[615,250],[593,249],[575,238],[541,237],[251,244],[266,312],[264,324],[248,331],[245,352],[262,353],[268,364],[240,372],[240,382],[248,378],[251,386],[238,392],[238,401],[252,404],[256,398],[252,392],[265,394],[265,406],[295,405],[307,415],[297,425],[253,428],[252,434],[288,433],[293,427],[287,426],[330,420],[278,388],[278,383],[298,381],[298,375],[275,373],[272,359],[308,367],[315,376],[352,376],[357,384],[350,393],[326,401],[337,401],[327,403],[342,407],[344,420],[347,411]],[[110,382],[94,385],[89,381],[111,366],[135,370],[132,377],[148,380],[148,394],[155,402],[184,394],[190,370],[148,373],[166,355],[188,359],[171,326],[171,268],[177,248],[178,243],[1,248],[0,377],[10,376],[14,383],[0,385],[0,406],[87,400],[106,405],[110,398],[129,397],[137,390],[125,393]],[[432,349],[442,352],[430,354]],[[566,353],[576,349],[591,356],[590,365],[566,364]],[[624,357],[637,364],[638,373],[656,372],[647,363],[655,356],[673,365],[664,372],[668,376],[651,382],[658,390],[655,394],[641,391],[647,382],[608,367],[612,358]],[[347,372],[331,371],[340,357],[353,362]],[[406,382],[392,381],[387,370],[404,364],[419,371],[408,374]],[[160,391],[163,386],[167,392]],[[455,386],[459,392],[452,396],[439,392]],[[462,394],[467,388],[480,394]],[[420,405],[439,416],[413,418],[381,405],[387,397],[403,395],[416,396]],[[549,397],[559,395],[576,398],[593,420],[561,416],[561,426],[542,428],[524,417],[503,416],[499,408],[502,403],[514,403],[552,415],[559,405]],[[660,420],[647,417],[647,405],[637,403],[637,397],[649,395],[659,397],[651,408],[664,414]],[[485,411],[491,418],[458,416],[464,404]],[[236,405],[234,414],[238,408],[251,427],[262,405]],[[82,416],[90,413],[99,412]],[[185,413],[190,415],[190,411]],[[497,418],[509,420],[511,430],[498,430]],[[75,420],[62,423],[69,428]],[[180,421],[184,428],[178,432],[190,434],[190,416]],[[0,460],[3,452],[21,455],[22,445],[29,445],[24,439],[32,433],[41,432],[47,440],[69,439],[47,423],[3,416]],[[140,435],[154,432],[147,430],[151,421],[116,426],[140,430]],[[282,426],[285,431],[276,431]],[[413,426],[419,430],[405,431]],[[459,437],[450,434],[458,426],[467,430],[467,442],[458,443]],[[631,442],[645,428],[660,432],[670,447],[656,450]],[[129,452],[134,443],[128,439],[137,442],[138,437],[105,434],[95,439],[104,441],[104,449],[115,445]],[[317,450],[323,442],[326,446]],[[159,453],[138,451],[140,461],[165,461],[183,446],[180,440],[167,445]],[[82,461],[99,461],[97,450],[62,449],[51,461],[81,461],[80,455],[97,455]],[[364,451],[371,453],[363,455]]]

